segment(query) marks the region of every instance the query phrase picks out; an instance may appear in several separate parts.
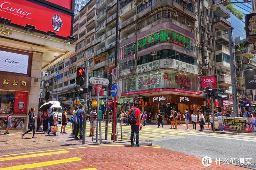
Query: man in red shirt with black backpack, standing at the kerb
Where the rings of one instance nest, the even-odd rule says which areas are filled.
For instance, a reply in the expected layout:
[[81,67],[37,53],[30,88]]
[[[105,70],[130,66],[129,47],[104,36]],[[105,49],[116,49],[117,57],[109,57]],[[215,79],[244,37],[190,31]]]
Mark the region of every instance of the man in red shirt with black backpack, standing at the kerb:
[[[128,117],[128,124],[131,124],[131,145],[134,146],[133,143],[133,137],[134,137],[134,132],[136,136],[136,144],[135,146],[140,146],[139,144],[139,131],[140,127],[143,125],[140,123],[140,109],[137,108],[139,105],[138,101],[133,102],[133,108],[129,110],[127,117]],[[131,114],[131,115],[130,115]],[[130,117],[129,117],[130,115]],[[137,122],[135,123],[137,119]]]

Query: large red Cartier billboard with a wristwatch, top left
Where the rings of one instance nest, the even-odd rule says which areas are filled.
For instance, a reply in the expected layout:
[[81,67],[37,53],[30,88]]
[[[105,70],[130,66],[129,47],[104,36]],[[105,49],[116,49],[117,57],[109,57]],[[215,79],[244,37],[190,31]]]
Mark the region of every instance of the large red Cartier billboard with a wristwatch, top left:
[[27,0],[6,0],[0,3],[0,16],[11,19],[13,24],[33,25],[37,30],[50,30],[63,37],[71,35],[71,15]]

